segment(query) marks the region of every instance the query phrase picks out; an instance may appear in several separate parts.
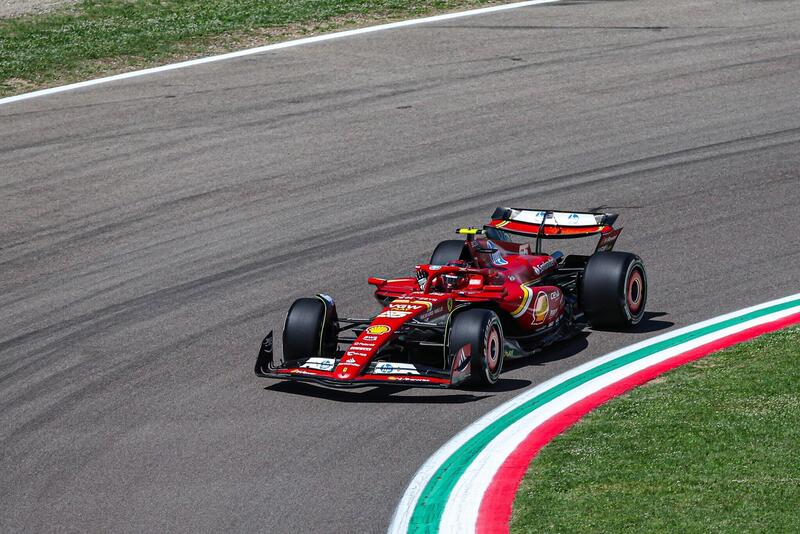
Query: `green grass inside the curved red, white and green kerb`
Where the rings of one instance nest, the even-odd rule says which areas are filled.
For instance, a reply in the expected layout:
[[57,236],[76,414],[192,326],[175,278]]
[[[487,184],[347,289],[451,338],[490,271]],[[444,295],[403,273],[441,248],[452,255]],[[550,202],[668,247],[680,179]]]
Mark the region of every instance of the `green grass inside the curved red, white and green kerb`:
[[531,463],[511,531],[800,532],[800,328],[589,414]]

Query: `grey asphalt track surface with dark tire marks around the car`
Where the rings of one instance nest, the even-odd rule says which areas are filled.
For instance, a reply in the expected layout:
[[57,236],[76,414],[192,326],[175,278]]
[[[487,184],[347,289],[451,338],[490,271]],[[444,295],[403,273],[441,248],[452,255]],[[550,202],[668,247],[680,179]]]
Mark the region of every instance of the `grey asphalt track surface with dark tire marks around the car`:
[[[3,531],[379,532],[523,388],[798,290],[800,3],[562,2],[0,107]],[[494,391],[256,379],[496,205],[622,213],[639,331]]]

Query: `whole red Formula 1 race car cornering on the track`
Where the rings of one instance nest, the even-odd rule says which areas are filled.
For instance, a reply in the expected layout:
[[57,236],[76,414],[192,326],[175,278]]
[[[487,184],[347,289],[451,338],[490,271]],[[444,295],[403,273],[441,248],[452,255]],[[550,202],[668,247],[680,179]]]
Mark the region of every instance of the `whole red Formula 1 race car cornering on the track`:
[[[616,214],[497,208],[482,229],[443,241],[416,276],[370,278],[382,310],[337,316],[325,294],[298,299],[283,329],[283,363],[272,332],[258,376],[327,386],[450,387],[494,384],[503,360],[529,356],[587,322],[622,329],[641,321],[642,260],[611,249]],[[599,235],[590,256],[542,252],[547,239]],[[529,241],[533,241],[531,249]]]

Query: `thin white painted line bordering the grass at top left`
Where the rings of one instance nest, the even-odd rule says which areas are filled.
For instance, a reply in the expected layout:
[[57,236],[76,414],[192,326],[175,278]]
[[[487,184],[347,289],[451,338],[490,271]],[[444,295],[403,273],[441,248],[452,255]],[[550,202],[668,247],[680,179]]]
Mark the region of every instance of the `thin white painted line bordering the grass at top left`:
[[373,33],[384,30],[393,30],[395,28],[404,28],[406,26],[415,26],[417,24],[428,24],[430,22],[441,22],[443,20],[458,19],[462,17],[472,17],[475,15],[485,15],[487,13],[496,13],[498,11],[508,11],[510,9],[517,9],[520,7],[535,6],[538,4],[552,4],[559,0],[528,0],[526,2],[515,2],[513,4],[504,4],[500,6],[482,7],[479,9],[470,9],[468,11],[459,11],[457,13],[446,13],[444,15],[435,15],[433,17],[424,17],[420,19],[401,20],[398,22],[391,22],[388,24],[379,24],[377,26],[367,26],[366,28],[357,28],[355,30],[347,30],[343,32],[326,33],[323,35],[316,35],[314,37],[305,37],[303,39],[294,39],[292,41],[285,41],[283,43],[275,43],[271,45],[258,46],[255,48],[247,48],[245,50],[238,50],[236,52],[229,52],[227,54],[219,54],[216,56],[202,57],[192,59],[189,61],[181,61],[180,63],[170,63],[169,65],[162,65],[160,67],[153,67],[150,69],[135,70],[132,72],[125,72],[123,74],[116,74],[114,76],[107,76],[105,78],[97,78],[94,80],[87,80],[85,82],[73,83],[70,85],[62,85],[60,87],[51,87],[50,89],[42,89],[40,91],[33,91],[31,93],[24,93],[16,96],[9,96],[0,99],[0,105],[11,104],[21,100],[29,100],[41,96],[52,95],[56,93],[63,93],[66,91],[74,91],[75,89],[82,89],[84,87],[91,87],[109,82],[116,82],[119,80],[127,80],[128,78],[137,78],[139,76],[147,76],[149,74],[156,74],[159,72],[167,72],[170,70],[185,69],[194,67],[196,65],[203,65],[205,63],[216,63],[217,61],[226,61],[228,59],[235,59],[244,56],[251,56],[253,54],[261,54],[262,52],[271,52],[273,50],[280,50],[282,48],[292,48],[295,46],[302,46],[312,43],[319,43],[322,41],[331,41],[333,39],[342,39],[345,37],[352,37],[354,35],[361,35],[364,33]]

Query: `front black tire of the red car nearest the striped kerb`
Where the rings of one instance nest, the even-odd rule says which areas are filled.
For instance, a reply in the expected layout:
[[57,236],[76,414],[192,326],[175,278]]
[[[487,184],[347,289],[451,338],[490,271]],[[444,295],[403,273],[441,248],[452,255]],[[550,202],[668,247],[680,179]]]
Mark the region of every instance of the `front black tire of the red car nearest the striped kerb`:
[[448,337],[450,361],[470,345],[470,378],[474,386],[491,386],[503,370],[503,325],[491,310],[472,308],[453,318]]

